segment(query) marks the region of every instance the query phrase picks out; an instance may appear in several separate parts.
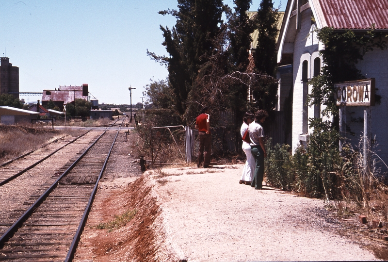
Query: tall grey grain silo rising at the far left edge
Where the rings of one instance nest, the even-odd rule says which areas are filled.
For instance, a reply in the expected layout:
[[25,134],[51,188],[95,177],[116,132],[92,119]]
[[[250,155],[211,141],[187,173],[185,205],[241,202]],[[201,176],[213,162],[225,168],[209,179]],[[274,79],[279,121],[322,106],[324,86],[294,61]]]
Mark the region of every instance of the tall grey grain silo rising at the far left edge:
[[19,67],[12,66],[8,57],[1,57],[0,61],[0,95],[14,93],[19,98]]

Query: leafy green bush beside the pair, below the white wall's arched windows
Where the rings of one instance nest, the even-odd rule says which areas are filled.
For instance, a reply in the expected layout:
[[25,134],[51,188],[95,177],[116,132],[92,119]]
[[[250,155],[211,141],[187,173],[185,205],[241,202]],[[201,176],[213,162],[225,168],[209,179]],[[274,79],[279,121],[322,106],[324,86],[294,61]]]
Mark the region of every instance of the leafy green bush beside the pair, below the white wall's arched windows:
[[314,131],[307,147],[298,147],[292,156],[288,145],[271,147],[267,141],[267,182],[308,197],[340,198],[351,165],[339,153],[339,133],[328,121],[310,119],[310,123]]

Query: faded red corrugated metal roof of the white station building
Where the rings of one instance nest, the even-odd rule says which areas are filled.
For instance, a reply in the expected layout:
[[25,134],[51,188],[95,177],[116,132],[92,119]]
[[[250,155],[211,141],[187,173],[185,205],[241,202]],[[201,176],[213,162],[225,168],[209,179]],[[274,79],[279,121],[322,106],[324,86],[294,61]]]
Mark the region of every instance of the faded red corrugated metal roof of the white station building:
[[319,0],[328,27],[388,29],[387,0]]

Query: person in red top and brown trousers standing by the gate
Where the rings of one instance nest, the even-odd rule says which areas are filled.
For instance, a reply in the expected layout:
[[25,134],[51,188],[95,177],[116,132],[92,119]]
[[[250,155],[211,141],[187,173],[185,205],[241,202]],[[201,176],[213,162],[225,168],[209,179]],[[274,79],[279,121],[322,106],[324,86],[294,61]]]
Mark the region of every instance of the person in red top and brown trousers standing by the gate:
[[210,165],[210,150],[211,150],[211,134],[209,108],[204,107],[195,119],[195,128],[198,129],[199,136],[199,152],[197,167],[200,167],[203,162],[203,167],[208,168]]

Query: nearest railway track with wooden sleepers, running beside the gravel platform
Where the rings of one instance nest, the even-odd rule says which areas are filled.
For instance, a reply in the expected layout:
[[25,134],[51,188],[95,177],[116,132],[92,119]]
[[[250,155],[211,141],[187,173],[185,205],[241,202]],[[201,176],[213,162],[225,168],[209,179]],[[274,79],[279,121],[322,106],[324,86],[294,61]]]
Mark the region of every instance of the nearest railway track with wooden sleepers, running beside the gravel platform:
[[52,185],[30,197],[27,211],[9,216],[16,222],[0,221],[8,228],[0,238],[0,261],[72,260],[118,130],[107,129],[72,164],[55,172]]

